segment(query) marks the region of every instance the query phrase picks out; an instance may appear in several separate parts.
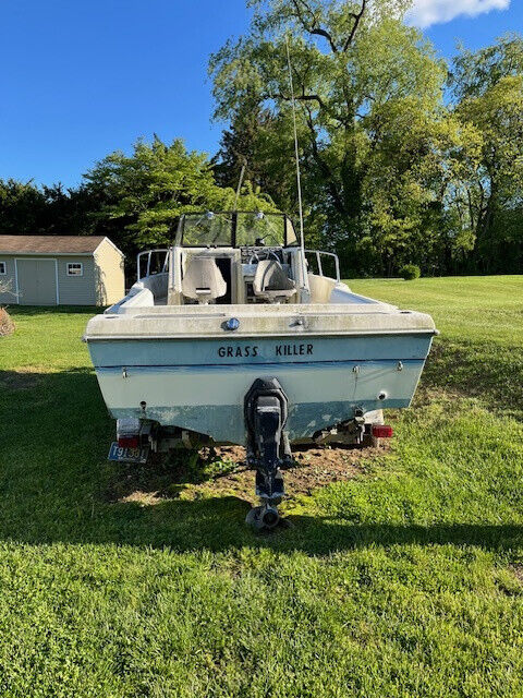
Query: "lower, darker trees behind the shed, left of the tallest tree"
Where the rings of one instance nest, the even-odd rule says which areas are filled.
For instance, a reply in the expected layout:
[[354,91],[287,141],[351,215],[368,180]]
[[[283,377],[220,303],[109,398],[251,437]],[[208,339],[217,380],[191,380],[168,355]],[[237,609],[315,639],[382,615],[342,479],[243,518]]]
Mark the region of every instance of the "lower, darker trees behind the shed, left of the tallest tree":
[[250,182],[238,195],[219,185],[207,155],[187,152],[180,139],[167,144],[156,135],[137,141],[130,155],[111,153],[77,188],[0,180],[1,233],[107,236],[131,258],[169,243],[182,214],[235,206],[277,210]]

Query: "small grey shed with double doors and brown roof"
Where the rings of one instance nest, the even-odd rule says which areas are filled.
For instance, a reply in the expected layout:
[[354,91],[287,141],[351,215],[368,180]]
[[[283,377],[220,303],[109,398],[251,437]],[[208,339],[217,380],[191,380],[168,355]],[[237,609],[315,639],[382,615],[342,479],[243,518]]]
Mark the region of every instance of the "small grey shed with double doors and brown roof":
[[123,260],[104,237],[0,234],[0,303],[111,305],[125,294]]

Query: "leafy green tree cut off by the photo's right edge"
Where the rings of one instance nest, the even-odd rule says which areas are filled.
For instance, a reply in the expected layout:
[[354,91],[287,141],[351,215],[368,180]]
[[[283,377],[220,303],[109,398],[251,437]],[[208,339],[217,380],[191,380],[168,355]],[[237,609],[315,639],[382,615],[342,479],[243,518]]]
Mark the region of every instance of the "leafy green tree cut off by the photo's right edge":
[[451,85],[455,116],[475,132],[478,144],[458,201],[474,237],[474,268],[519,272],[523,263],[523,40],[509,35],[476,52],[462,48]]

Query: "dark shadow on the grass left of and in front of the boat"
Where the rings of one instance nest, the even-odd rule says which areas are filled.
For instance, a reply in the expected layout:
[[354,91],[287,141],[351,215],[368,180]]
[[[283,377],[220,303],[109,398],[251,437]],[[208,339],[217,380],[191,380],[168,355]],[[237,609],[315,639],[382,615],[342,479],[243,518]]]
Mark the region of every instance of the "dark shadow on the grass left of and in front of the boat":
[[[108,489],[125,470],[106,460],[113,436],[94,373],[5,376],[0,390],[0,538],[31,544],[113,543],[179,551],[245,545],[309,555],[374,545],[523,544],[523,527],[500,525],[392,526],[325,516],[291,516],[293,526],[257,535],[244,526],[250,504],[235,496],[154,505],[110,502]],[[27,375],[27,374],[25,374]],[[120,473],[120,474],[119,474]],[[129,474],[129,473],[127,473]],[[160,473],[169,479],[169,472]],[[173,481],[180,473],[173,473]],[[154,477],[154,476],[153,476]],[[365,486],[365,483],[362,483]]]

